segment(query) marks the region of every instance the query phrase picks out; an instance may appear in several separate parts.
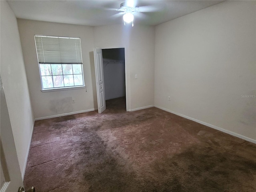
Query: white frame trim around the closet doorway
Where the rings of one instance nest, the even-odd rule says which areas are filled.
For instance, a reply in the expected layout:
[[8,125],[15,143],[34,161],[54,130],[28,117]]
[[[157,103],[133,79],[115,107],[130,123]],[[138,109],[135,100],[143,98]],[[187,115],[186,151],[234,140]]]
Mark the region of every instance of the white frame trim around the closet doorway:
[[[124,71],[125,71],[125,99],[126,99],[126,111],[130,109],[130,92],[128,93],[128,62],[127,62],[127,48],[126,46],[106,46],[96,47],[98,49],[119,49],[124,48]],[[97,98],[98,99],[98,98]]]

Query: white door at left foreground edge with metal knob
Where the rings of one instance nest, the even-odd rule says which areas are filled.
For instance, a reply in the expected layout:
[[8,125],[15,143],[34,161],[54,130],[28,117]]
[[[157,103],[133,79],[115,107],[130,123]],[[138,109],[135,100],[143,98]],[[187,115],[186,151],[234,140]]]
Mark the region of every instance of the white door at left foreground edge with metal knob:
[[[0,102],[0,141],[1,141],[1,188],[0,192],[17,192],[20,186],[23,186],[18,163],[18,156],[14,144],[12,127],[10,123],[9,112],[4,95],[4,88],[1,82],[1,102]],[[20,138],[22,139],[22,138]]]

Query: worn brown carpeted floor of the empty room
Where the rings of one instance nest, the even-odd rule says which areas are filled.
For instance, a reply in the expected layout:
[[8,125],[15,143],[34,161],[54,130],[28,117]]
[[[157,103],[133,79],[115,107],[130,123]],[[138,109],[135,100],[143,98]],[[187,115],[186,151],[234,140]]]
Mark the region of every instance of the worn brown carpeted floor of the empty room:
[[24,178],[36,192],[255,192],[256,144],[125,99],[35,122]]

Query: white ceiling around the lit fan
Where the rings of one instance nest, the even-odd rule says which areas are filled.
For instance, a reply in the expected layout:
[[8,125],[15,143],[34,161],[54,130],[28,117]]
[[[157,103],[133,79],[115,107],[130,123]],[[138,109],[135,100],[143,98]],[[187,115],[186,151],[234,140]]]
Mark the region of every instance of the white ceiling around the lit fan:
[[[17,18],[100,26],[122,24],[122,14],[115,9],[125,0],[9,0]],[[147,10],[134,14],[134,25],[158,25],[190,14],[223,1],[211,0],[134,0],[136,6],[148,6]],[[140,8],[143,10],[146,7]]]

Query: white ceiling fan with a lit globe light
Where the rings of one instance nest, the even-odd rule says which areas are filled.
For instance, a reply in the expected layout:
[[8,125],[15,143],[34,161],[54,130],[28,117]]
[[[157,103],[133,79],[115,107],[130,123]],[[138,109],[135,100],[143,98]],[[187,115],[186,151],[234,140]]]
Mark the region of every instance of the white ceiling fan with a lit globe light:
[[120,4],[120,9],[113,9],[113,10],[120,11],[120,13],[118,13],[116,15],[123,14],[124,26],[126,23],[130,23],[130,22],[132,22],[132,26],[134,26],[134,24],[133,24],[134,13],[136,13],[136,12],[153,12],[153,11],[156,11],[157,8],[153,7],[153,6],[136,7],[133,3],[129,3],[129,1],[127,1],[127,2],[123,2]]

